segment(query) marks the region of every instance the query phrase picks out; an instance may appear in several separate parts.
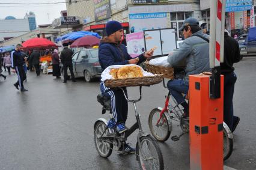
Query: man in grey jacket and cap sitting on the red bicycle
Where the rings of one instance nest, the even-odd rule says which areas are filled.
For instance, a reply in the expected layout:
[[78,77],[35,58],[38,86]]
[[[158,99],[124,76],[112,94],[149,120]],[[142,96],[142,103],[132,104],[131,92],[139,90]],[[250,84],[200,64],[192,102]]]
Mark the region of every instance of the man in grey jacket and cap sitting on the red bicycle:
[[185,40],[180,48],[168,56],[171,67],[177,67],[180,61],[185,61],[186,69],[183,79],[169,80],[167,86],[172,96],[184,108],[183,117],[189,116],[189,106],[181,93],[189,90],[189,75],[210,71],[209,65],[209,36],[204,34],[195,18],[184,20],[180,28]]

